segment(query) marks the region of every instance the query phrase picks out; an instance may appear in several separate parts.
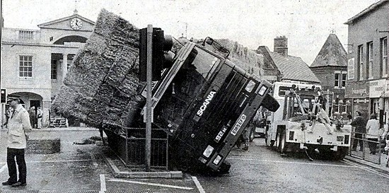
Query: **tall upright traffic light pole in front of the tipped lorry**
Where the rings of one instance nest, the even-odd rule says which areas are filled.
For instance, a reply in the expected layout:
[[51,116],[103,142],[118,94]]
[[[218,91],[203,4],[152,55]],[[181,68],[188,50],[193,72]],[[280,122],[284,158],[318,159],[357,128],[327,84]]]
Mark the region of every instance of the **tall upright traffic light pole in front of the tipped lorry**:
[[151,163],[151,110],[152,93],[152,60],[153,60],[153,25],[147,25],[147,67],[146,67],[146,172],[150,171]]

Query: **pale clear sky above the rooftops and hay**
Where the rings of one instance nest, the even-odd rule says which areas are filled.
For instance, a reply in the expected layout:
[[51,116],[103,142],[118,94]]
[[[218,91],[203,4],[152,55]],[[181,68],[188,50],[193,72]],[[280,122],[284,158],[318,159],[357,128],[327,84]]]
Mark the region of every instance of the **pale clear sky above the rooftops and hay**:
[[173,37],[213,37],[237,41],[249,49],[274,37],[288,38],[289,55],[312,64],[330,33],[347,49],[344,23],[377,0],[1,0],[5,28],[37,25],[79,15],[96,21],[102,8],[137,28],[148,24]]

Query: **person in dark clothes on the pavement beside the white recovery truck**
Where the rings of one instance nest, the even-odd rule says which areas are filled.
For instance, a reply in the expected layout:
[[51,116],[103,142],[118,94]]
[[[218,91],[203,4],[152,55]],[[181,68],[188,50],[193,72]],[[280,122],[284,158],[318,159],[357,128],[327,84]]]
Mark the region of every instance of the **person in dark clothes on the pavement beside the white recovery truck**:
[[354,143],[352,145],[352,150],[356,151],[356,146],[359,144],[359,151],[364,151],[364,141],[363,137],[364,134],[366,134],[366,120],[364,117],[362,117],[362,113],[359,111],[356,111],[356,117],[354,121],[352,121],[351,125],[352,127],[355,127],[355,139]]

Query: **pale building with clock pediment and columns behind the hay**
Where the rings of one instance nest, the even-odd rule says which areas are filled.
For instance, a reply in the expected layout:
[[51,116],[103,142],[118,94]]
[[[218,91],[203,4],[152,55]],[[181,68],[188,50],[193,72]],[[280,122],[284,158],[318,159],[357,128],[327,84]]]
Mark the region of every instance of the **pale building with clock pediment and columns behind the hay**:
[[[1,28],[1,89],[6,89],[6,95],[21,96],[26,109],[42,107],[48,117],[69,65],[94,25],[74,11],[37,25],[40,30]],[[1,115],[5,108],[1,104]]]

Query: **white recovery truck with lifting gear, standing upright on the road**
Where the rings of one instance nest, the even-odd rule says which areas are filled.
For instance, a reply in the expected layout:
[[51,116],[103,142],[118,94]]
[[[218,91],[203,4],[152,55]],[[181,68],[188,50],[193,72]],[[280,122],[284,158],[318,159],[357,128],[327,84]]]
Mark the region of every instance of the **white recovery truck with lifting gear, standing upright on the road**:
[[[266,144],[281,153],[306,151],[312,156],[342,160],[350,146],[352,128],[342,120],[329,119],[329,107],[318,85],[273,83],[273,97],[281,106],[272,112],[267,125]],[[330,93],[328,93],[330,94]]]

